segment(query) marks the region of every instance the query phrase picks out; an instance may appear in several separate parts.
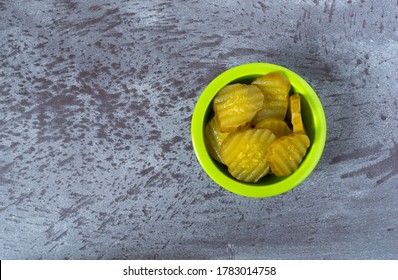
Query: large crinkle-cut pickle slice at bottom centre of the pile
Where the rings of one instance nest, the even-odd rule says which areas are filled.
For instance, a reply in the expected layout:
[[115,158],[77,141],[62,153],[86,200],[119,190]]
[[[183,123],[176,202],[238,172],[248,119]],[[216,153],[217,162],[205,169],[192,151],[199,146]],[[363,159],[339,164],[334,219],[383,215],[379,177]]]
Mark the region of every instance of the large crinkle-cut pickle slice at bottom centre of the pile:
[[256,183],[269,172],[267,151],[276,136],[268,129],[232,132],[221,145],[222,160],[239,181]]

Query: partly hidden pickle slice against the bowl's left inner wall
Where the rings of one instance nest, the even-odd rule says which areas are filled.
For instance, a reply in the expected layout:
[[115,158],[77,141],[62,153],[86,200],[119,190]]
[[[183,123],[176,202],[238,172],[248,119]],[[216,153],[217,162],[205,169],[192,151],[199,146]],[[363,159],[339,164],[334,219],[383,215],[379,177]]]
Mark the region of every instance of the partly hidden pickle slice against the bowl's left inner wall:
[[220,163],[223,163],[221,159],[221,144],[228,134],[229,132],[221,132],[215,117],[212,117],[206,124],[205,143],[207,150]]

